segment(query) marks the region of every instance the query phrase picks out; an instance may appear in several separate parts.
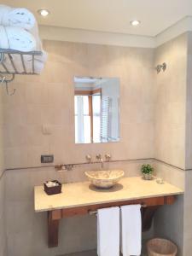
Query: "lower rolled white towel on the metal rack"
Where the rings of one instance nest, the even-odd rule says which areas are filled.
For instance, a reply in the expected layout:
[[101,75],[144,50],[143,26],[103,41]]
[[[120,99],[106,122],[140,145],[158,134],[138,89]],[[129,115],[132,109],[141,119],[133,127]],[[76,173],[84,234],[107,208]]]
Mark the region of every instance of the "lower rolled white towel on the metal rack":
[[25,29],[14,26],[0,26],[0,48],[23,52],[36,49],[36,39]]

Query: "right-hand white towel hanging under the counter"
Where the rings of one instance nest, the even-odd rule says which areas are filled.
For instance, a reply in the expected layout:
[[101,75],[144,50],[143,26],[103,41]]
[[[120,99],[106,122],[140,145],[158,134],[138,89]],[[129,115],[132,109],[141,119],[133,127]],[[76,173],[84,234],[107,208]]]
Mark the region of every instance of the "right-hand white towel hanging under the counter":
[[138,256],[142,251],[141,206],[131,205],[121,209],[121,253]]

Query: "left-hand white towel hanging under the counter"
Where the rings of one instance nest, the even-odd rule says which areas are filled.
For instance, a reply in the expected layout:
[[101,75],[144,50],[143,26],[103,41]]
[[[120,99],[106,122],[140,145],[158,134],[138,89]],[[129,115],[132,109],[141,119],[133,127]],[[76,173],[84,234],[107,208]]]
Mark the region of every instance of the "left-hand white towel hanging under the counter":
[[97,254],[119,256],[119,207],[97,211]]

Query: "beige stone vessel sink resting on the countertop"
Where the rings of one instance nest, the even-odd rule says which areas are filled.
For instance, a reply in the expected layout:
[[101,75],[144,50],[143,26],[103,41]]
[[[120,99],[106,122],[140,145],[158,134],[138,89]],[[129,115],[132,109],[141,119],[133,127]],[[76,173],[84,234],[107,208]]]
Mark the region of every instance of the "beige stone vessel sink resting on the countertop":
[[118,183],[121,177],[124,177],[125,173],[122,170],[110,170],[89,171],[84,172],[84,174],[96,188],[109,189],[112,188],[115,183]]

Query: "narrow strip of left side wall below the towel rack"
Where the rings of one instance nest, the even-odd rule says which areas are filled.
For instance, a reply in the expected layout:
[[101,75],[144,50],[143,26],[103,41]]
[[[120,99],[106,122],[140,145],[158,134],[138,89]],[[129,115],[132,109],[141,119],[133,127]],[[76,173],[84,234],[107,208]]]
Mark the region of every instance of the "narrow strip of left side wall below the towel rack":
[[0,256],[6,256],[6,229],[5,229],[5,190],[3,165],[3,104],[2,88],[0,87]]

